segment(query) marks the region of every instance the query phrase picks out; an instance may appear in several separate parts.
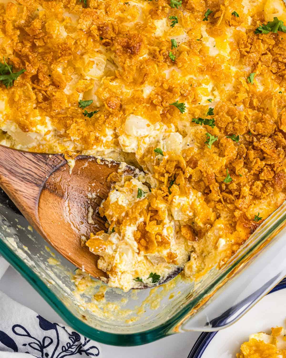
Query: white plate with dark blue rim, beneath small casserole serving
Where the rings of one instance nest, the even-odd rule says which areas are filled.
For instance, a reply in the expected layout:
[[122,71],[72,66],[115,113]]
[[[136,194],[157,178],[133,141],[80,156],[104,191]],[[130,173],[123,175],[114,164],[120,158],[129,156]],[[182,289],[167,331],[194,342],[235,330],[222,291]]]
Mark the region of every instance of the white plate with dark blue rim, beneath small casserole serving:
[[188,358],[234,358],[252,333],[271,333],[271,327],[286,328],[286,279],[263,297],[241,319],[218,332],[202,333]]

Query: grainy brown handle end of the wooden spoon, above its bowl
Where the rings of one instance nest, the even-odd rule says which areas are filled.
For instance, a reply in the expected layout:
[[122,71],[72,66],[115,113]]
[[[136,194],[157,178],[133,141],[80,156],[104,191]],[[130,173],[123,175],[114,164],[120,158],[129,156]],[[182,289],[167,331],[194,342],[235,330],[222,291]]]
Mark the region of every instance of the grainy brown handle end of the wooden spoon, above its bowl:
[[60,154],[23,152],[0,145],[0,187],[29,222],[39,225],[38,201],[43,185],[64,163]]

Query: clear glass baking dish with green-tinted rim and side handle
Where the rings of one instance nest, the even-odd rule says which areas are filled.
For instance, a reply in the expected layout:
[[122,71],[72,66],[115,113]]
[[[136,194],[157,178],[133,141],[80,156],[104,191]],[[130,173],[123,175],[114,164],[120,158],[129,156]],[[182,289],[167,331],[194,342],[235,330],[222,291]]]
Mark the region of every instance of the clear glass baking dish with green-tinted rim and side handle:
[[89,294],[73,293],[75,267],[28,228],[1,190],[0,253],[75,330],[107,344],[138,345],[178,332],[224,328],[270,291],[286,274],[285,208],[286,203],[227,265],[213,269],[201,282],[179,276],[151,290],[110,289],[104,303],[94,300],[106,289],[100,281]]

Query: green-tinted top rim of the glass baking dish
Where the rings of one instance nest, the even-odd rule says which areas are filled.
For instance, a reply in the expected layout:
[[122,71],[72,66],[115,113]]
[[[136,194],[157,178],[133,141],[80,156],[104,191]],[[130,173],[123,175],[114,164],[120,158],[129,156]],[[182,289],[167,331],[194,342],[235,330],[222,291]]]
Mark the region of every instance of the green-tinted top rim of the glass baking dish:
[[[75,317],[65,305],[55,296],[48,286],[30,269],[25,262],[18,259],[13,250],[8,247],[3,240],[0,240],[0,252],[3,257],[34,287],[36,291],[44,298],[44,300],[58,313],[63,320],[68,323],[73,329],[82,333],[86,337],[96,340],[100,343],[132,346],[151,343],[154,340],[161,339],[167,335],[173,334],[173,327],[176,326],[191,309],[196,306],[199,301],[206,295],[210,294],[220,282],[226,278],[230,272],[236,268],[247,256],[249,256],[256,248],[258,248],[271,234],[275,233],[276,229],[280,228],[285,223],[286,214],[278,218],[273,225],[266,229],[261,236],[255,240],[249,247],[246,248],[244,253],[236,258],[218,277],[200,294],[197,295],[192,301],[189,302],[172,318],[167,320],[164,324],[158,325],[150,330],[145,330],[138,333],[130,334],[113,334],[104,332],[90,327],[83,321]],[[272,288],[272,287],[270,287]]]

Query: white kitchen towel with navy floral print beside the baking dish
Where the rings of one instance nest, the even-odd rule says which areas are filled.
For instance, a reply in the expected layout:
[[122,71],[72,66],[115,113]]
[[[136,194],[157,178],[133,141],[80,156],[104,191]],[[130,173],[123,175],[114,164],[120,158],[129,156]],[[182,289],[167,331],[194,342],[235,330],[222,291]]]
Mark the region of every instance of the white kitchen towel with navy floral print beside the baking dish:
[[20,358],[19,353],[41,358],[102,357],[97,342],[49,322],[0,291],[0,358]]

